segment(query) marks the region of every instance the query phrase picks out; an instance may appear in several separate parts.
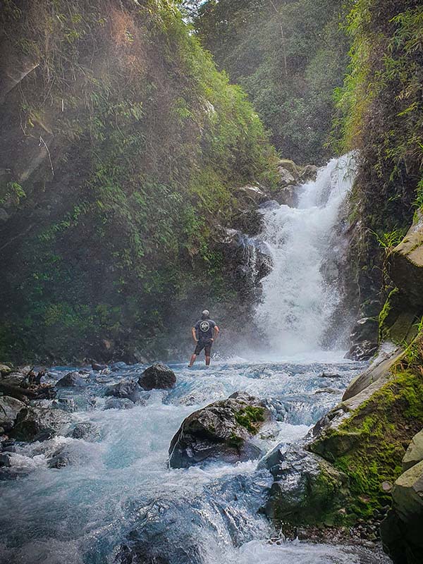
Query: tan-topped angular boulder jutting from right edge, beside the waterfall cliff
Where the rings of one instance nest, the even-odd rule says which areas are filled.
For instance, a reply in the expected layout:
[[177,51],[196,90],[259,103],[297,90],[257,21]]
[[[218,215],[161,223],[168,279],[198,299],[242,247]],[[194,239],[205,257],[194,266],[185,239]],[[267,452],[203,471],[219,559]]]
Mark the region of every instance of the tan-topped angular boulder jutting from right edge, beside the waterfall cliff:
[[423,307],[423,212],[415,221],[388,260],[388,274],[416,307]]

